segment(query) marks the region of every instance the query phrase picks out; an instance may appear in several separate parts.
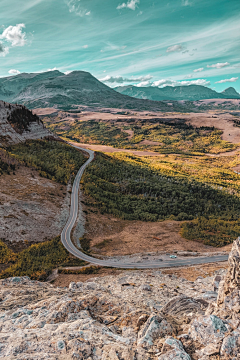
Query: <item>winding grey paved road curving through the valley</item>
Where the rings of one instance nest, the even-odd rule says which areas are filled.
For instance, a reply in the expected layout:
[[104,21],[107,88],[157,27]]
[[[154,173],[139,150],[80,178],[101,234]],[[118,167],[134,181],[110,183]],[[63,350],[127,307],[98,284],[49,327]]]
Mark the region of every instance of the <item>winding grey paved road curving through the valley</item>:
[[[72,145],[72,144],[70,144]],[[85,162],[84,165],[80,168],[77,173],[77,176],[74,180],[71,194],[71,209],[68,221],[62,231],[61,240],[64,247],[74,256],[78,257],[81,260],[85,260],[94,265],[100,266],[109,266],[123,269],[150,269],[150,268],[165,268],[165,267],[174,267],[174,266],[186,266],[186,265],[197,265],[197,264],[206,264],[211,262],[219,262],[226,261],[228,259],[228,255],[218,255],[211,257],[196,257],[191,259],[169,259],[167,261],[144,261],[141,263],[125,263],[120,261],[110,261],[110,260],[100,260],[89,255],[82,253],[78,250],[75,245],[71,241],[71,231],[77,220],[78,216],[78,192],[79,192],[79,184],[81,177],[85,168],[90,164],[90,162],[94,159],[94,151],[88,149],[82,149],[78,146],[72,145],[76,149],[86,151],[89,154],[89,159]]]

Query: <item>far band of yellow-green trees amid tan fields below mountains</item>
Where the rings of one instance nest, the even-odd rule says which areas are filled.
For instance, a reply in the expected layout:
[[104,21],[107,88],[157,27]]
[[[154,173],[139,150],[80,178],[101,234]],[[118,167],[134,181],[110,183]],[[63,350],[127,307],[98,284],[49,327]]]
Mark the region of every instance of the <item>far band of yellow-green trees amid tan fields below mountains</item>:
[[[66,120],[44,121],[58,135],[73,141],[110,145],[116,148],[151,150],[159,153],[204,154],[234,150],[237,145],[221,139],[214,127],[194,127],[184,119],[118,119],[117,121],[79,121],[66,126]],[[131,130],[129,137],[126,130]],[[142,141],[156,144],[142,143]],[[159,144],[157,144],[159,143]]]

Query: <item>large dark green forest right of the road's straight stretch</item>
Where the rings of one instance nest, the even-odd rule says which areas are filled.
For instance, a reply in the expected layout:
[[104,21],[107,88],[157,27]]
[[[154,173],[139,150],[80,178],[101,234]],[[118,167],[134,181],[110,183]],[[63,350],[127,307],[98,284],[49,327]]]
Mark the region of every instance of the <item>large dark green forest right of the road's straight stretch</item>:
[[[174,174],[174,172],[172,172]],[[83,176],[85,194],[102,213],[127,220],[228,219],[240,214],[240,199],[177,171],[165,175],[144,160],[97,153]]]

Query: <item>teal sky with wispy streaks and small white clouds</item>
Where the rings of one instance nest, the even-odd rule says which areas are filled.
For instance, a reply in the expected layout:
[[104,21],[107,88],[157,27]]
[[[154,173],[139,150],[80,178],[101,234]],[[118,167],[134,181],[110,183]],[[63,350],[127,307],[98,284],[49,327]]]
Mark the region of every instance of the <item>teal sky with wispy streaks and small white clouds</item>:
[[0,77],[52,69],[240,92],[240,1],[1,0]]

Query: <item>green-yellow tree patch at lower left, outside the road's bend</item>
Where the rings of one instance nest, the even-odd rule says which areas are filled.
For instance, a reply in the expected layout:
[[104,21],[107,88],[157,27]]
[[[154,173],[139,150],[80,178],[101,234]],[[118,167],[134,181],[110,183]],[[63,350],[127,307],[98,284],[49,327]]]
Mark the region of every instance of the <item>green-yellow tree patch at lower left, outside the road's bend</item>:
[[[3,256],[6,254],[6,245],[3,246]],[[0,243],[1,251],[1,243]],[[71,266],[72,257],[61,243],[60,237],[40,244],[31,245],[17,254],[16,261],[0,274],[4,279],[13,276],[29,276],[33,280],[46,280],[51,271],[59,266]],[[74,259],[74,265],[82,266],[85,262]]]

